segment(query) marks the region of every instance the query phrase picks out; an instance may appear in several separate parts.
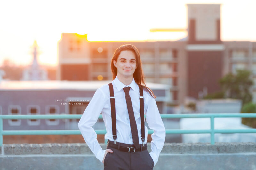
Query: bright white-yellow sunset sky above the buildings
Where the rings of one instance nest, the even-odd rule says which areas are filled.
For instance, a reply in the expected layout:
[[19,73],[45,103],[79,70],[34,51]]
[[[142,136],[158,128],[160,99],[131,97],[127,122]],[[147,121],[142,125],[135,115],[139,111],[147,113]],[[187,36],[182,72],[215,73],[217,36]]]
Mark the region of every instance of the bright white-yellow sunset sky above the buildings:
[[32,61],[34,40],[40,64],[57,65],[61,33],[88,34],[89,41],[184,38],[187,32],[150,32],[151,28],[187,28],[186,4],[221,4],[221,40],[256,41],[255,0],[179,1],[1,1],[0,65]]

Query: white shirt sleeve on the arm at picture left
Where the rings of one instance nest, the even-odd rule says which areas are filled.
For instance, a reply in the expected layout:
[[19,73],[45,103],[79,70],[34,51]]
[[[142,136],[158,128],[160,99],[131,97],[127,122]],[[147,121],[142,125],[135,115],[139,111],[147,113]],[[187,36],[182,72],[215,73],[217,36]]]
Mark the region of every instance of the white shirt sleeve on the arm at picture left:
[[104,92],[101,89],[97,89],[78,122],[78,128],[80,129],[86,144],[101,163],[106,150],[101,148],[97,140],[97,134],[92,126],[97,122],[105,105],[106,98]]

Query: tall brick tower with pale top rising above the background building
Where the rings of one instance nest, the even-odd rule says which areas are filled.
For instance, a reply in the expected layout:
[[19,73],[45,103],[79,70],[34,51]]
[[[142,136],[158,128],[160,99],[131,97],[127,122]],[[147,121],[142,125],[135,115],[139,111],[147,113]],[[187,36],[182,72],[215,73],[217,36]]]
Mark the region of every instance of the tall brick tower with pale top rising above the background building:
[[220,4],[188,6],[188,96],[220,90],[224,45],[220,40]]

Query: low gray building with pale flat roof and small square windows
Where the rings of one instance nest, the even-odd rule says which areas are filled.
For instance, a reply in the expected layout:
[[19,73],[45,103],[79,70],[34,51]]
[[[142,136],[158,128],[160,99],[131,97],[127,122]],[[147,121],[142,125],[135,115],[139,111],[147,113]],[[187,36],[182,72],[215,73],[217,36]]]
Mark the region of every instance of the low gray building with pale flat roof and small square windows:
[[[83,114],[95,91],[109,81],[9,81],[0,82],[0,115]],[[148,83],[160,113],[167,112],[168,85]],[[4,119],[3,130],[78,129],[80,119]],[[94,125],[105,129],[103,119]]]

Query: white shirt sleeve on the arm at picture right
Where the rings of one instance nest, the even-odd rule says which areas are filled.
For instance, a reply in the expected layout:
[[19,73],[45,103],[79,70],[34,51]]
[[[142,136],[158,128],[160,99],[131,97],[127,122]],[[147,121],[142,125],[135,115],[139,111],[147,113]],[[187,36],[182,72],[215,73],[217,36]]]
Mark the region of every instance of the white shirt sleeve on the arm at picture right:
[[154,130],[151,135],[151,152],[149,153],[156,165],[159,154],[164,146],[165,127],[156,105],[156,100],[149,96],[146,110],[146,121],[150,129]]

